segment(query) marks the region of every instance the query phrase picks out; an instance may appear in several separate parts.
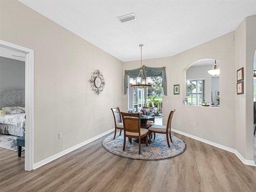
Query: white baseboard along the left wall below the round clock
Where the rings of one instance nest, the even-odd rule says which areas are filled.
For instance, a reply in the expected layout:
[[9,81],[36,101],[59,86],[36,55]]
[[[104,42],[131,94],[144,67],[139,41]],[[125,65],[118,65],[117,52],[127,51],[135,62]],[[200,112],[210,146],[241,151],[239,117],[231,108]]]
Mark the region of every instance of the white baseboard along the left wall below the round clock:
[[37,168],[39,168],[40,166],[43,166],[43,165],[45,165],[45,164],[47,164],[47,163],[49,163],[49,162],[51,162],[51,161],[53,161],[53,160],[55,160],[55,159],[57,159],[57,158],[63,156],[63,155],[65,155],[65,154],[68,154],[69,152],[71,152],[71,151],[73,151],[73,150],[76,150],[77,148],[80,148],[81,146],[84,146],[84,145],[86,145],[86,144],[88,144],[88,143],[90,143],[90,142],[92,142],[92,141],[94,141],[94,140],[96,140],[96,139],[99,139],[100,137],[102,137],[102,136],[104,136],[104,135],[107,135],[108,133],[111,133],[111,132],[114,131],[114,130],[115,130],[115,129],[110,129],[109,131],[106,131],[106,132],[104,132],[104,133],[102,133],[102,134],[100,134],[100,135],[97,135],[97,136],[95,136],[95,137],[93,137],[93,138],[91,138],[91,139],[88,139],[87,141],[84,141],[84,142],[82,142],[82,143],[80,143],[80,144],[77,144],[77,145],[75,145],[75,146],[72,146],[72,147],[70,147],[70,148],[68,148],[68,149],[66,149],[66,150],[64,150],[64,151],[62,151],[62,152],[59,152],[59,153],[57,153],[57,154],[55,154],[55,155],[53,155],[53,156],[50,156],[50,157],[48,157],[48,158],[46,158],[46,159],[44,159],[44,160],[41,160],[41,161],[39,161],[39,162],[33,164],[33,169],[37,169]]

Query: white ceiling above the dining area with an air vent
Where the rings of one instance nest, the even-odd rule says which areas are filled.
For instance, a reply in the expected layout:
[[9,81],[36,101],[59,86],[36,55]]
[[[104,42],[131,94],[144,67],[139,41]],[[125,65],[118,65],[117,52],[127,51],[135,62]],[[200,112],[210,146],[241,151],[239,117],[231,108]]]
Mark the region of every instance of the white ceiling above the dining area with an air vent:
[[[236,30],[249,0],[20,0],[121,61],[168,57]],[[117,17],[134,13],[135,21]]]

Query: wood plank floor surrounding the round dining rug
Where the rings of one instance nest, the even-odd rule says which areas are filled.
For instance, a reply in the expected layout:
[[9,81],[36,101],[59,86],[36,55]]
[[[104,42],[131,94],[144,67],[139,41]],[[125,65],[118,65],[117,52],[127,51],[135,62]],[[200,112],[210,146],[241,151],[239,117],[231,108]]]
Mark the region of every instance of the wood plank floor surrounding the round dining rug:
[[24,152],[0,149],[1,192],[255,192],[256,167],[235,154],[172,133],[187,144],[164,160],[116,156],[93,141],[36,170],[24,170]]

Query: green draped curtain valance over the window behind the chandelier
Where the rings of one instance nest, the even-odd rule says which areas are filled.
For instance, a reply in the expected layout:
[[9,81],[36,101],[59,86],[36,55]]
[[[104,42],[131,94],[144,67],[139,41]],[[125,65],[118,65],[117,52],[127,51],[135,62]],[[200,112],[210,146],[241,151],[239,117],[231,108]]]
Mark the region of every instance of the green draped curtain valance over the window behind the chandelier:
[[[156,76],[159,75],[162,72],[162,88],[164,90],[164,95],[166,95],[166,73],[165,73],[165,67],[146,67],[142,66],[142,73],[146,77],[146,73]],[[140,74],[140,68],[138,69],[132,69],[132,70],[126,70],[124,73],[124,95],[127,93],[128,89],[128,76],[132,78],[138,77]]]

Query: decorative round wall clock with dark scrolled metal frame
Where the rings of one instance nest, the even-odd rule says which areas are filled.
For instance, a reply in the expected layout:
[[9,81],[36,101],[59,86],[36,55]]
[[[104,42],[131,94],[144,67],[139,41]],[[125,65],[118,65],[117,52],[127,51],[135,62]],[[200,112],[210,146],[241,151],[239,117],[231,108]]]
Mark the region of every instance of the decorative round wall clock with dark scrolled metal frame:
[[89,82],[92,91],[97,95],[99,95],[105,88],[105,79],[99,69],[92,72]]

